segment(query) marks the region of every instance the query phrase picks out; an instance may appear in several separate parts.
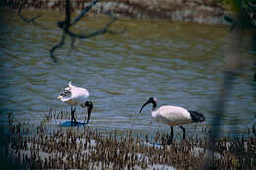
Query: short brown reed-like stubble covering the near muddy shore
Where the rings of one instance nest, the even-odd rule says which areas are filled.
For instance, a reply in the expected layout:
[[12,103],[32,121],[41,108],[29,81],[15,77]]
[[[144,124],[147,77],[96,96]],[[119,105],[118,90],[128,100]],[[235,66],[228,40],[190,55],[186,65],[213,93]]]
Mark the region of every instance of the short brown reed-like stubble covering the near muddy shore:
[[[8,129],[0,142],[1,161],[24,169],[145,169],[157,165],[198,169],[208,152],[207,136],[170,141],[168,134],[102,134],[90,127],[49,131],[43,123],[36,131],[24,123],[9,123]],[[202,133],[207,130],[202,128]],[[254,126],[243,136],[216,139],[215,145],[215,169],[256,169]]]

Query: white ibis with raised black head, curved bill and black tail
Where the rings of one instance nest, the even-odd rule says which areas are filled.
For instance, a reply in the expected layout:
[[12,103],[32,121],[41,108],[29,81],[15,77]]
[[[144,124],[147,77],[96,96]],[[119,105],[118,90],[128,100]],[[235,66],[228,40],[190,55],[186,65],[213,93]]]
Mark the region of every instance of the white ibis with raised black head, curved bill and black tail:
[[165,105],[161,106],[156,110],[157,107],[157,99],[155,97],[151,97],[146,103],[143,104],[140,113],[144,106],[152,103],[152,112],[151,115],[157,121],[162,122],[164,124],[168,124],[171,126],[171,137],[173,138],[173,126],[180,125],[180,128],[183,130],[183,139],[185,139],[186,130],[183,124],[189,124],[193,122],[204,122],[205,117],[203,114],[197,111],[187,110],[182,107]]

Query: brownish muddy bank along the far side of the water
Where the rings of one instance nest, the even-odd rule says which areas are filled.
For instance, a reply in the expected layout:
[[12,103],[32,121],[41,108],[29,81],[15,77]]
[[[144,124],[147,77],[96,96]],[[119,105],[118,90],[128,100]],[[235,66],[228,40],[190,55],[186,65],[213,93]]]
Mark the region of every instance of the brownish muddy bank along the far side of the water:
[[[81,11],[91,0],[72,1],[72,10]],[[65,9],[64,0],[4,0],[1,6],[59,10]],[[227,14],[222,4],[201,0],[101,0],[90,13],[113,12],[117,16],[137,19],[165,19],[170,21],[223,24]]]

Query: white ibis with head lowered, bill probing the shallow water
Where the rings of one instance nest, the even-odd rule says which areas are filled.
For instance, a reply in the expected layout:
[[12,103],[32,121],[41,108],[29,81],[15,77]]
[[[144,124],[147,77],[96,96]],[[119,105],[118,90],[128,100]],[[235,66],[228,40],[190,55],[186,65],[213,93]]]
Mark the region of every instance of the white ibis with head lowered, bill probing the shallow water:
[[[89,123],[91,110],[93,109],[93,103],[91,101],[87,101],[89,97],[89,92],[87,89],[82,87],[73,86],[71,81],[68,83],[68,87],[66,87],[63,92],[58,96],[58,99],[64,103],[67,103],[71,106],[71,126],[78,125],[77,120],[75,119],[74,113],[76,111],[76,106],[80,105],[82,108],[88,108],[88,117],[87,124]],[[74,120],[74,124],[73,124]]]

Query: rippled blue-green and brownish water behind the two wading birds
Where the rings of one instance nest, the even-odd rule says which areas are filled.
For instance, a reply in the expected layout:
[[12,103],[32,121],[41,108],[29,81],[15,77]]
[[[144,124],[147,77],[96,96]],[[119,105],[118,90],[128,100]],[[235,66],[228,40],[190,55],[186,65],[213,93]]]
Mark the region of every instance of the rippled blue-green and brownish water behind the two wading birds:
[[[64,16],[60,12],[23,11],[25,16],[41,13],[40,25],[34,26],[23,22],[14,10],[1,10],[1,125],[8,123],[8,110],[15,110],[16,120],[32,123],[39,123],[49,109],[69,111],[57,96],[70,80],[89,90],[95,106],[90,126],[105,131],[168,132],[168,126],[151,118],[151,106],[138,113],[151,96],[158,98],[158,106],[172,104],[200,111],[206,125],[211,123],[224,69],[228,26],[119,19],[111,30],[126,28],[124,34],[76,40],[74,50],[67,38],[55,52],[58,63],[54,64],[49,49],[62,36],[56,22]],[[86,17],[72,29],[89,33],[108,21],[102,16]],[[249,37],[246,35],[246,42]],[[255,122],[255,52],[244,44],[244,67],[228,98],[224,132]],[[86,114],[83,109],[78,112]],[[192,132],[193,126],[186,127]]]

